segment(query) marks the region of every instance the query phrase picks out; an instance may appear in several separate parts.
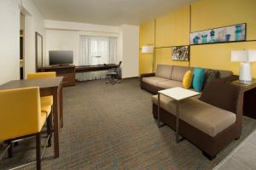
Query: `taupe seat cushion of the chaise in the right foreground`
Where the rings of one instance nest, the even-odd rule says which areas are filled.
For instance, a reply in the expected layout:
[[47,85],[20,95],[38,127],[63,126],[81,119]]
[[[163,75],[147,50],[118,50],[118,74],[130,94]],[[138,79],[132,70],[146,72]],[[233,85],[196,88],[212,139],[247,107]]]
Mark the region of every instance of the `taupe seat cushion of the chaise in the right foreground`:
[[[174,100],[163,95],[161,95],[160,100],[162,109],[176,115],[177,109]],[[158,105],[157,95],[152,97],[152,101]],[[180,119],[214,137],[235,123],[236,115],[199,99],[185,99],[180,102]]]

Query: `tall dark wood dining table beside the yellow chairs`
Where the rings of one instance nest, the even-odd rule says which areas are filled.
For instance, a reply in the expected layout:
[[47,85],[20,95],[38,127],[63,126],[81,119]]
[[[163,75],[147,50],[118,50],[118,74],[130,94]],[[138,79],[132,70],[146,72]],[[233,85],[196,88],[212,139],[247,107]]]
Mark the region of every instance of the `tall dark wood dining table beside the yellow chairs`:
[[63,77],[49,77],[26,80],[15,80],[0,85],[0,90],[13,88],[28,88],[39,87],[40,95],[53,95],[53,114],[54,114],[54,150],[55,158],[59,157],[59,131],[60,131],[60,117],[61,126],[63,124],[63,110],[62,110],[62,81]]

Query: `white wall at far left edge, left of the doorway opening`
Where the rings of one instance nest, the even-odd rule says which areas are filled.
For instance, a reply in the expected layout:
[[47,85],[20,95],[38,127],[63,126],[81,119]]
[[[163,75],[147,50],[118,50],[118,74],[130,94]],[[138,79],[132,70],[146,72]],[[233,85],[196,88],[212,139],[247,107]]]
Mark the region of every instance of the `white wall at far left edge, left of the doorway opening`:
[[0,0],[0,84],[20,77],[20,8]]

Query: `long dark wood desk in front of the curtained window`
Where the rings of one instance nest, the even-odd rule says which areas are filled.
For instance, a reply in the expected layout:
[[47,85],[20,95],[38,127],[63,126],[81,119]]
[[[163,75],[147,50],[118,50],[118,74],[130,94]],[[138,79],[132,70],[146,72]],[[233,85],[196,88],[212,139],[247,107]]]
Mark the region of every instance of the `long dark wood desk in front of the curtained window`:
[[80,65],[75,66],[75,72],[90,72],[90,71],[108,71],[109,69],[117,68],[119,65]]

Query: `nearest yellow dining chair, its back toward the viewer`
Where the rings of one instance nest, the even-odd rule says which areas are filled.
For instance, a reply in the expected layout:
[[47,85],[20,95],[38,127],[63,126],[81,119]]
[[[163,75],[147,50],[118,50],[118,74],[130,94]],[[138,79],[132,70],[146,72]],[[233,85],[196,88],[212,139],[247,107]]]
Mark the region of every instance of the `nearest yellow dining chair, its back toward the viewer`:
[[36,136],[37,169],[41,169],[41,131],[48,114],[41,111],[38,87],[0,90],[0,141],[8,142],[9,157],[15,140]]

